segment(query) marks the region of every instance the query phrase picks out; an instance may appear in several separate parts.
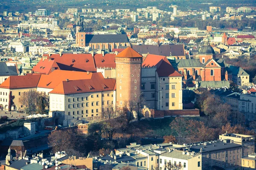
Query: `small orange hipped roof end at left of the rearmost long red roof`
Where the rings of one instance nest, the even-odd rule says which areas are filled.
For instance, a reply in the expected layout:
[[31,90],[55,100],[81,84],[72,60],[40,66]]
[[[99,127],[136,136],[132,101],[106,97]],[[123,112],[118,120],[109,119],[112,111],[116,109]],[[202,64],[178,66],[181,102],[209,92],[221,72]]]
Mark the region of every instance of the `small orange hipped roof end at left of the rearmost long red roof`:
[[40,74],[50,74],[53,70],[60,70],[57,63],[54,60],[43,58],[32,68],[32,71]]

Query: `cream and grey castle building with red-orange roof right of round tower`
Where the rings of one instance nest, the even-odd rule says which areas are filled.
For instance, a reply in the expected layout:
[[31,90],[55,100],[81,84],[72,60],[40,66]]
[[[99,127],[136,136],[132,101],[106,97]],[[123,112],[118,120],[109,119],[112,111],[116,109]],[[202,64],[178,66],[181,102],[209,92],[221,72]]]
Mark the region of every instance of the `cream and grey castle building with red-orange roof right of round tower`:
[[179,110],[182,105],[182,75],[164,56],[148,54],[142,63],[142,91],[148,108]]

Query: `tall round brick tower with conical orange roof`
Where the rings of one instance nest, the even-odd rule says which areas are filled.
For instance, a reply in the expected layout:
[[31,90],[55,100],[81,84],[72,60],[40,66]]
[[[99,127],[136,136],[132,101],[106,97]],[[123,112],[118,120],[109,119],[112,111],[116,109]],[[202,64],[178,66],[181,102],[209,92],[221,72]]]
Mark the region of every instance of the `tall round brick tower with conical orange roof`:
[[[116,105],[135,102],[141,93],[142,55],[131,47],[116,55]],[[129,105],[127,105],[129,107]]]

